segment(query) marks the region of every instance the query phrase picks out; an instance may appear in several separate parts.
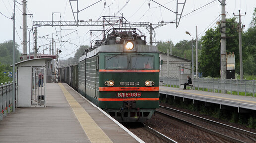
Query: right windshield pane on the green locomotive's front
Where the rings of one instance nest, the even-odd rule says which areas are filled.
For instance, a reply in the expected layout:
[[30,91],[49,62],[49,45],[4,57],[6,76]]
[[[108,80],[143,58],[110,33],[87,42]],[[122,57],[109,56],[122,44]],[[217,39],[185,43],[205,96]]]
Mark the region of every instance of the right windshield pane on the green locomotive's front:
[[153,56],[131,56],[132,69],[154,69]]

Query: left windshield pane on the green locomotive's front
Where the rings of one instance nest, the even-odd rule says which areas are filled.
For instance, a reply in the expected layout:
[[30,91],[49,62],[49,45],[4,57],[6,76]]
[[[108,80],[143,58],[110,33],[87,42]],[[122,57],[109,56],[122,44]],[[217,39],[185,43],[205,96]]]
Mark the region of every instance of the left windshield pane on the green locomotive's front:
[[106,69],[128,69],[128,56],[109,55],[105,61]]

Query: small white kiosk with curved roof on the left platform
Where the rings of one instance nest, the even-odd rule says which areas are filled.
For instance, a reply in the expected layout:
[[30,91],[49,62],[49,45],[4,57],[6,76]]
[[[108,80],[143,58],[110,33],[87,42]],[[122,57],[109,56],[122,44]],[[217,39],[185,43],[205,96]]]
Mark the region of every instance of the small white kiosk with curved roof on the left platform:
[[47,69],[51,68],[51,60],[52,58],[37,58],[15,64],[17,107],[46,107],[46,78],[44,77],[47,77]]

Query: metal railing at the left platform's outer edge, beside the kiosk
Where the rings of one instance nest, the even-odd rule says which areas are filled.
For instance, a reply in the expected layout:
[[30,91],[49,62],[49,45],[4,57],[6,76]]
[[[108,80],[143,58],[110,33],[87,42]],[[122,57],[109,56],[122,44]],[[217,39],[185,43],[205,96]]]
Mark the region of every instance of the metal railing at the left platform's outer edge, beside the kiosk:
[[1,83],[0,85],[0,120],[10,113],[12,107],[12,83]]

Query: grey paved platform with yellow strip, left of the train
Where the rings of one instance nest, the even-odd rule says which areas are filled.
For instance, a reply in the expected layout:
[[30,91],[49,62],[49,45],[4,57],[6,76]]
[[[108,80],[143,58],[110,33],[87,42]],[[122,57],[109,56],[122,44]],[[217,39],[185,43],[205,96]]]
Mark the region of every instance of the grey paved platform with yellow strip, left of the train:
[[67,84],[46,86],[46,107],[18,107],[0,121],[0,143],[143,143]]

